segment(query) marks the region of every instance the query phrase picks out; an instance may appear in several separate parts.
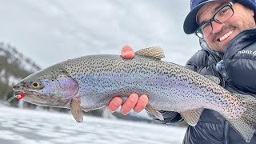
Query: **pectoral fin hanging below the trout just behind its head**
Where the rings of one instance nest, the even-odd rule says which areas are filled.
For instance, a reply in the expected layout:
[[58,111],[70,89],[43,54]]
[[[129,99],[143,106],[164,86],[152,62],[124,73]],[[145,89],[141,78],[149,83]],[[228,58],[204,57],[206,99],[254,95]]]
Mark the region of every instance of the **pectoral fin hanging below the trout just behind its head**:
[[71,114],[77,122],[83,121],[81,102],[78,99],[71,100]]

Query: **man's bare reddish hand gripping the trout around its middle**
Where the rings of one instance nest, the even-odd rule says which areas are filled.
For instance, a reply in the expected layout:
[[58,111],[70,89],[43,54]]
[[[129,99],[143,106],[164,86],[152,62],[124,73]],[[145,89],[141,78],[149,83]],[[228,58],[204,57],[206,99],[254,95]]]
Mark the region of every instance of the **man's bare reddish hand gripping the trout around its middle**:
[[[130,59],[134,58],[134,50],[130,46],[123,46],[122,47],[122,58]],[[127,98],[126,102],[122,105],[122,98],[114,97],[106,109],[110,112],[114,112],[118,110],[118,107],[122,105],[121,113],[126,115],[129,114],[131,110],[134,110],[135,113],[141,112],[145,109],[147,103],[149,102],[148,97],[143,94],[142,96],[138,97],[138,94],[130,94]]]

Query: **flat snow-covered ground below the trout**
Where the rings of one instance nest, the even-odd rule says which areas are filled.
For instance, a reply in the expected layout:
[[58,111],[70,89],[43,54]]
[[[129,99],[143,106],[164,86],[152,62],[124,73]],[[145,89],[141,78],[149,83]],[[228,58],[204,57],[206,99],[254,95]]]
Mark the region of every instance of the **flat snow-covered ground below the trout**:
[[92,117],[77,123],[70,114],[0,106],[1,144],[178,144],[185,131],[167,125]]

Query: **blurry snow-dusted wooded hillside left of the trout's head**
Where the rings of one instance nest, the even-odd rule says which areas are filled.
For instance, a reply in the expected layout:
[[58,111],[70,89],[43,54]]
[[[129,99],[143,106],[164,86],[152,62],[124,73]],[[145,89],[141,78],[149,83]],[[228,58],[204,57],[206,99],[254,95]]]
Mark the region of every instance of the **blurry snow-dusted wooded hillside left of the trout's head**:
[[[0,42],[0,100],[6,101],[12,97],[12,86],[40,69],[40,66],[19,53],[14,46]],[[13,106],[17,106],[17,103],[17,100],[10,102]]]

